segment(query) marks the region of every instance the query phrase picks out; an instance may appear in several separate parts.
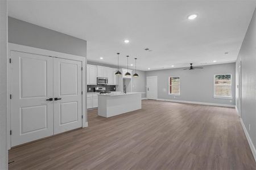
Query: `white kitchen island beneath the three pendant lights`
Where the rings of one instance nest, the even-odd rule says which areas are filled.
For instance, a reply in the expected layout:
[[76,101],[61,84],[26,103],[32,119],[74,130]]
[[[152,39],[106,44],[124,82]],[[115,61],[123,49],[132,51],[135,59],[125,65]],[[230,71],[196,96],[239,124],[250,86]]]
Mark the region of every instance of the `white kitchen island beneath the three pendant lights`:
[[98,116],[112,117],[141,109],[141,93],[98,94]]

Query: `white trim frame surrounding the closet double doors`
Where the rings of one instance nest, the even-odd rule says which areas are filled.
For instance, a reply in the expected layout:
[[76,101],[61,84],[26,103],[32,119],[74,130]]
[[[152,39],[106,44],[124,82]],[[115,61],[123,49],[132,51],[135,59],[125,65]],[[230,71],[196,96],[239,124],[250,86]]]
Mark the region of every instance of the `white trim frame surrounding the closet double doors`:
[[30,54],[39,54],[42,56],[48,57],[56,57],[63,59],[71,59],[82,62],[82,128],[88,127],[87,121],[87,108],[86,108],[86,95],[87,95],[87,85],[86,85],[86,70],[87,70],[87,59],[82,56],[75,56],[73,54],[60,53],[46,49],[34,48],[32,46],[19,45],[14,43],[8,43],[8,55],[7,55],[7,148],[10,150],[11,148],[11,67],[10,67],[10,59],[11,59],[11,51],[15,52],[23,52]]

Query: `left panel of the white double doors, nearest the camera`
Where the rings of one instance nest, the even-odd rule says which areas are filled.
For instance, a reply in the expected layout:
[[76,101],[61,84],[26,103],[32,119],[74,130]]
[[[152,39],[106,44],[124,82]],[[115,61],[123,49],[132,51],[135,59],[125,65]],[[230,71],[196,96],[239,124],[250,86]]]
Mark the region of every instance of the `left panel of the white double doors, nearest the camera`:
[[53,59],[11,51],[11,146],[53,135]]

